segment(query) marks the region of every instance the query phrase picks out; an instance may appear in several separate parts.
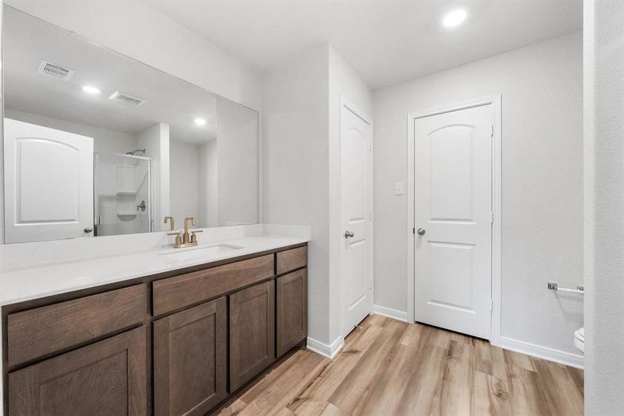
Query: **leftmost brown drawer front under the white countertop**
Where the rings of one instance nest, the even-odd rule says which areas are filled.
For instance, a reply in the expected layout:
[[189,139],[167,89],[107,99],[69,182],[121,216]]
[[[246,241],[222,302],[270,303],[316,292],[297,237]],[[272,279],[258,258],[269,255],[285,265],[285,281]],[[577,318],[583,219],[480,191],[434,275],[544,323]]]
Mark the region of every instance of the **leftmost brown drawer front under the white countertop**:
[[85,343],[143,322],[145,284],[80,297],[7,317],[8,365]]

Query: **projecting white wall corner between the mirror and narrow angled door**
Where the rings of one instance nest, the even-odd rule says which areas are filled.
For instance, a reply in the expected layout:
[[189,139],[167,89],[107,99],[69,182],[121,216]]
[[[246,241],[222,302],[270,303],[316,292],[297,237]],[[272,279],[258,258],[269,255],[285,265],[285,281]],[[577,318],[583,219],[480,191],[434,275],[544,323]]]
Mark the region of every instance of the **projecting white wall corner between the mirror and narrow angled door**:
[[371,114],[371,90],[326,44],[267,73],[263,92],[265,222],[312,225],[308,335],[336,345],[342,315],[340,97]]

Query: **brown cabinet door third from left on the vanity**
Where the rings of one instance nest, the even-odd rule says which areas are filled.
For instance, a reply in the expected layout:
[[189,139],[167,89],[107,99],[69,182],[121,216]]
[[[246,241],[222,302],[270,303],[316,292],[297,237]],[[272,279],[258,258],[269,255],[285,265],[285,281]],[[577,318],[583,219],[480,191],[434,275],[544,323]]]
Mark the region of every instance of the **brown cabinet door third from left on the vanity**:
[[230,388],[234,391],[275,360],[275,282],[230,295]]

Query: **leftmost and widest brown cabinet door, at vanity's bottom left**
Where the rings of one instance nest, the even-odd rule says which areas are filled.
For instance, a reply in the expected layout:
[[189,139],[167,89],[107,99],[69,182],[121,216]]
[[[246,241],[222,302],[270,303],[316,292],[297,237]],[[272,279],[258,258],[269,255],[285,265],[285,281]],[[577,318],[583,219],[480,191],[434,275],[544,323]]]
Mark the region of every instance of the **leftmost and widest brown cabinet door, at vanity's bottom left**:
[[146,415],[145,327],[8,375],[8,414]]

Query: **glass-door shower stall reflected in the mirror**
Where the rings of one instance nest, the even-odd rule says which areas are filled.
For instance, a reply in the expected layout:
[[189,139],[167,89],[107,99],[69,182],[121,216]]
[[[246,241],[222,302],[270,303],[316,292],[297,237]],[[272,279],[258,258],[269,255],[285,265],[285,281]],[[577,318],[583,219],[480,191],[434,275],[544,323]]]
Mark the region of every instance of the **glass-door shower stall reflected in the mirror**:
[[152,159],[96,153],[96,236],[152,230]]

